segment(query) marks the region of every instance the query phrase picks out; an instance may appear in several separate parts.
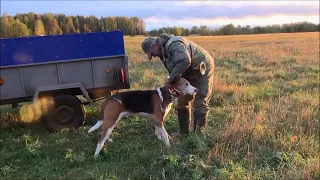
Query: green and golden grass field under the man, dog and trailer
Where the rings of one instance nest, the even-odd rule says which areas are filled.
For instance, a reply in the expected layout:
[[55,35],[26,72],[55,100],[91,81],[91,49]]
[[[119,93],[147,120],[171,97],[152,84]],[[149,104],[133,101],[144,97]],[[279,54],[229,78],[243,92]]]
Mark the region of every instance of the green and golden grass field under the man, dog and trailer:
[[[0,179],[319,179],[319,33],[189,37],[215,59],[209,127],[174,138],[154,136],[146,118],[123,118],[98,158],[101,129],[86,124],[48,134],[1,107]],[[143,37],[126,37],[132,90],[163,85],[166,70],[146,61]],[[165,122],[178,131],[172,111]]]

